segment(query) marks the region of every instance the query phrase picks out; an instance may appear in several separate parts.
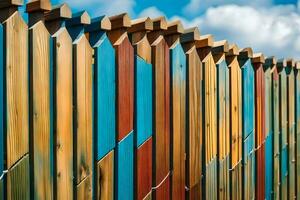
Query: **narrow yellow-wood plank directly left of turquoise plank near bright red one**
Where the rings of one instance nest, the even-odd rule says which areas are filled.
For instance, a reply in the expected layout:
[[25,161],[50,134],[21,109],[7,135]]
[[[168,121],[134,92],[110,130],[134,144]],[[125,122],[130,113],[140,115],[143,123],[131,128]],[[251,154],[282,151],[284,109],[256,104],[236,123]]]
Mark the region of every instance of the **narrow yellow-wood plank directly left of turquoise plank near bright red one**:
[[230,69],[231,198],[242,198],[242,73],[237,57],[228,62]]

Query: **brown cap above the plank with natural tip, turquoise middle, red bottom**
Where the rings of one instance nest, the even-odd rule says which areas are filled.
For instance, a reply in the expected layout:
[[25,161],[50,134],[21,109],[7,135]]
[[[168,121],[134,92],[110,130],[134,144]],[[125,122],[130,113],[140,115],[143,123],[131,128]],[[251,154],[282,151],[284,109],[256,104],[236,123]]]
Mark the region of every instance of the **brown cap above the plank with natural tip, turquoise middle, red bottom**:
[[128,28],[129,33],[151,31],[153,30],[153,22],[149,17],[131,20],[131,27]]

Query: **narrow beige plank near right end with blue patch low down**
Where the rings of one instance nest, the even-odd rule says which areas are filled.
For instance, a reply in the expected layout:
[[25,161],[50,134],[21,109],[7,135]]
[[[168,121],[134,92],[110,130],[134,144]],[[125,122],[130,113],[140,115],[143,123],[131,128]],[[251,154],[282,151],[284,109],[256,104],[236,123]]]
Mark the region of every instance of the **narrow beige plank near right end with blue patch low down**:
[[278,68],[279,72],[279,120],[280,120],[280,174],[282,199],[287,199],[288,195],[288,153],[287,153],[287,77],[284,69]]

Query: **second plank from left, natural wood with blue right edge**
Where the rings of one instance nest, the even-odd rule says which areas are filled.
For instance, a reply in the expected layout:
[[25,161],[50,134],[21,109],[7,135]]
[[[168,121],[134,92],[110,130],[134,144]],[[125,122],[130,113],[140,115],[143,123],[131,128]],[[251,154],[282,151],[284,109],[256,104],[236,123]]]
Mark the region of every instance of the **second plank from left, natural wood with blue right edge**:
[[52,38],[42,22],[29,29],[30,159],[34,199],[53,198]]

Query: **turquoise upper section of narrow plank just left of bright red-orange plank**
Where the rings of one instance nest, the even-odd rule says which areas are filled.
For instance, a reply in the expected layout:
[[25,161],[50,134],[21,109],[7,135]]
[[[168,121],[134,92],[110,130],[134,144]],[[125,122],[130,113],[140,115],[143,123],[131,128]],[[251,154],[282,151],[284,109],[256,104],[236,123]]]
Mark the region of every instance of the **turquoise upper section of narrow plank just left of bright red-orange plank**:
[[246,139],[255,127],[255,72],[248,59],[242,66],[242,131]]

